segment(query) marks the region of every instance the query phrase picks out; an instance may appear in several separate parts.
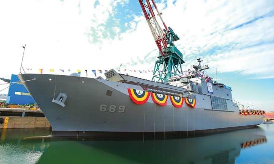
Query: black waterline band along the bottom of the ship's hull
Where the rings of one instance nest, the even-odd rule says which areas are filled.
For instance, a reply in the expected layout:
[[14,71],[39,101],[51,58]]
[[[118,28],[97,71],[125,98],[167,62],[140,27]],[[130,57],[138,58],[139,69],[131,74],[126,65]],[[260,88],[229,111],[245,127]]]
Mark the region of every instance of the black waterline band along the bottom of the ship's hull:
[[166,132],[100,132],[100,131],[52,131],[53,137],[65,137],[68,139],[92,139],[92,140],[127,140],[127,139],[178,139],[186,137],[198,137],[215,133],[229,132],[233,130],[255,128],[257,125],[228,127],[194,131],[166,131]]

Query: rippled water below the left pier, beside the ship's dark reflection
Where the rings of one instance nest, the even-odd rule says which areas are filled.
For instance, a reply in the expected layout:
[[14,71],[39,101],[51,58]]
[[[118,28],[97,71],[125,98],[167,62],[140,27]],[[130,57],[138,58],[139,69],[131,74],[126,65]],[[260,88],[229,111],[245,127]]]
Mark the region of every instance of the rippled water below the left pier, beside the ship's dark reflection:
[[50,145],[50,139],[24,140],[49,135],[50,128],[0,129],[0,164],[35,164]]

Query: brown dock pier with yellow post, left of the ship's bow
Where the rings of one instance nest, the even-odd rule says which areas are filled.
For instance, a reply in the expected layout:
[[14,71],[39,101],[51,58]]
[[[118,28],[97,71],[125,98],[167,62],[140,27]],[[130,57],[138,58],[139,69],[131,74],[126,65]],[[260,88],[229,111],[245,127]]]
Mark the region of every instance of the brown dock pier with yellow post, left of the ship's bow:
[[0,108],[1,128],[50,128],[41,110]]

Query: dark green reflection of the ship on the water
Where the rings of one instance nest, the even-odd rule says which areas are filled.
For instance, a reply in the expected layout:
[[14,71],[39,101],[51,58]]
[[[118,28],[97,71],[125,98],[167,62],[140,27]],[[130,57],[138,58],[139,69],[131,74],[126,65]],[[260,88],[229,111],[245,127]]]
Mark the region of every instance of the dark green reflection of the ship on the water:
[[[202,137],[147,141],[60,141],[53,139],[39,162],[230,164],[246,143],[267,142],[264,130],[253,128]],[[65,156],[64,156],[65,154]],[[111,160],[110,160],[111,159]]]

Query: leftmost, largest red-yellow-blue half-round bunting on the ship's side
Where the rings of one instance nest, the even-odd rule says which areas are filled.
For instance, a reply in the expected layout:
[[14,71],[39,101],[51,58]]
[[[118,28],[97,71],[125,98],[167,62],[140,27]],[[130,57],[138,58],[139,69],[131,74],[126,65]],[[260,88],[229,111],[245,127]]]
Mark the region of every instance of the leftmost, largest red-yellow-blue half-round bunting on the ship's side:
[[138,105],[146,103],[150,95],[150,93],[147,91],[136,90],[136,89],[128,89],[128,93],[129,93],[130,99]]

